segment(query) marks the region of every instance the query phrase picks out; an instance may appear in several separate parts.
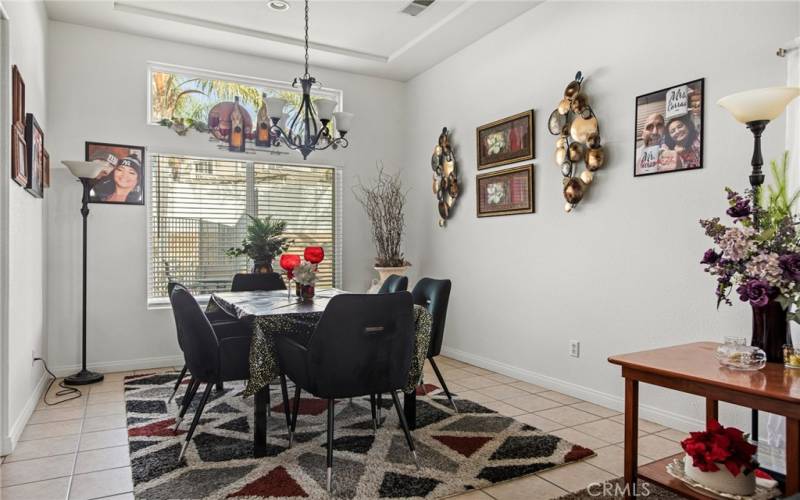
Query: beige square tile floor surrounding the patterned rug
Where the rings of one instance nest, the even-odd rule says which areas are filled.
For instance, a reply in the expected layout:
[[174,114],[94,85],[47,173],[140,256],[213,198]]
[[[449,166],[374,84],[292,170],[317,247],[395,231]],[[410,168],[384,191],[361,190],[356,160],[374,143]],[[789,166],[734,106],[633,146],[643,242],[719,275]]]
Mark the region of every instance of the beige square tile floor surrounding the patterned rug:
[[[437,364],[451,391],[597,453],[583,462],[460,495],[459,500],[555,498],[622,475],[619,412],[453,359],[439,357]],[[0,498],[132,499],[122,387],[129,373],[135,372],[106,375],[74,401],[54,407],[40,402],[14,453],[1,459]],[[438,385],[427,365],[425,380]],[[640,464],[680,451],[683,433],[646,421],[639,429]]]

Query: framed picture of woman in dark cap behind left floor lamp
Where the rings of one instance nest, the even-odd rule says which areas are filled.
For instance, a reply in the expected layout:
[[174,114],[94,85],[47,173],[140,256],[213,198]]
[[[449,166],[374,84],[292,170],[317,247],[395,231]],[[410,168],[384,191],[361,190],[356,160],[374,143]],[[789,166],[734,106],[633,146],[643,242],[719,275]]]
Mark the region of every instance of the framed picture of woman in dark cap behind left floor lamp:
[[144,147],[86,143],[86,161],[103,164],[92,182],[89,203],[144,205]]

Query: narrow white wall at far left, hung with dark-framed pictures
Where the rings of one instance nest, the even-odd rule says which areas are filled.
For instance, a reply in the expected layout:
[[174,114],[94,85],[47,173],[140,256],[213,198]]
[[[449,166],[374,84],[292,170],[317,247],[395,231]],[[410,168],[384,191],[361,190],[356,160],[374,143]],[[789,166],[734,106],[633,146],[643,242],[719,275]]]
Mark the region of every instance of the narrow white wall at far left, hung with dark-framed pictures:
[[[45,105],[47,14],[44,4],[37,2],[6,2],[4,7],[9,21],[10,64],[16,64],[25,80],[25,109],[33,113],[45,132],[45,147],[50,129]],[[3,64],[8,61],[3,61]],[[4,75],[6,73],[3,73]],[[7,89],[6,86],[3,87]],[[4,95],[4,99],[10,99]],[[8,109],[5,107],[4,109]],[[4,116],[4,122],[6,115]],[[3,128],[4,131],[9,130]],[[10,133],[10,132],[9,132]],[[4,133],[5,135],[5,133]],[[7,161],[10,158],[6,155]],[[3,165],[8,165],[3,161]],[[7,167],[4,167],[7,168]],[[7,241],[2,248],[3,259],[7,259],[7,295],[0,300],[7,307],[6,323],[0,325],[0,334],[5,338],[0,384],[0,394],[7,400],[0,401],[3,412],[0,453],[10,451],[22,432],[30,413],[36,406],[39,391],[43,387],[41,366],[33,366],[31,353],[41,354],[45,348],[45,237],[44,217],[46,200],[32,197],[22,187],[10,180],[8,171],[2,176],[3,224],[0,241]],[[7,217],[7,221],[6,221]],[[2,316],[2,315],[0,315]]]

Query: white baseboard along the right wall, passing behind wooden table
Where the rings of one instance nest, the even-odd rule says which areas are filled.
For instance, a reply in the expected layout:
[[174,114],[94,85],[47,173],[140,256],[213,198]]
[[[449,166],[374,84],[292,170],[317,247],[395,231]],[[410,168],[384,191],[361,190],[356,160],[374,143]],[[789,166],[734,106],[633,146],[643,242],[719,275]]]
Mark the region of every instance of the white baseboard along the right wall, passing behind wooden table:
[[[617,411],[624,411],[625,400],[621,396],[615,394],[608,394],[601,392],[590,387],[574,384],[565,380],[536,373],[530,370],[525,370],[513,365],[495,361],[493,359],[478,356],[476,354],[454,349],[452,347],[442,347],[442,354],[447,357],[469,363],[471,365],[479,366],[487,370],[492,370],[509,377],[514,377],[518,380],[523,380],[531,384],[540,385],[550,390],[558,391],[569,396],[589,401],[607,408],[612,408]],[[653,421],[657,424],[666,425],[674,429],[682,431],[693,431],[705,427],[705,421],[687,417],[678,413],[668,410],[657,408],[651,405],[640,404],[639,416],[646,420]]]

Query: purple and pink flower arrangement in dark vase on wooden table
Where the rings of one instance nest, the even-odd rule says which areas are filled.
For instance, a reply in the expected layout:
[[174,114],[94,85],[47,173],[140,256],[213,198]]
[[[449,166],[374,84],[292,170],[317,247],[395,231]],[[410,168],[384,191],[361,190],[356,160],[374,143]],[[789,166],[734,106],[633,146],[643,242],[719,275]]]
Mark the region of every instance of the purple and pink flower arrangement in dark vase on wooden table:
[[[787,193],[787,157],[782,165],[772,162],[774,185],[766,203],[752,206],[753,193],[744,196],[726,188],[732,218],[730,225],[719,217],[701,220],[715,248],[706,250],[701,264],[716,277],[717,307],[731,305],[735,290],[753,310],[751,345],[767,354],[767,361],[783,360],[783,345],[791,345],[788,319],[800,322],[792,306],[800,305],[800,219],[793,213],[798,193]],[[760,193],[760,190],[759,190]],[[761,207],[766,208],[761,208]]]

